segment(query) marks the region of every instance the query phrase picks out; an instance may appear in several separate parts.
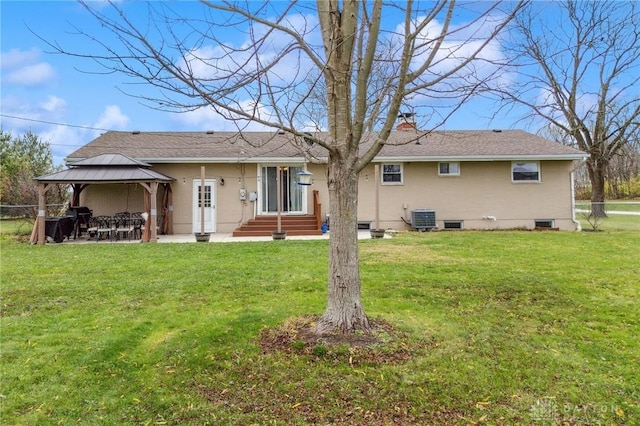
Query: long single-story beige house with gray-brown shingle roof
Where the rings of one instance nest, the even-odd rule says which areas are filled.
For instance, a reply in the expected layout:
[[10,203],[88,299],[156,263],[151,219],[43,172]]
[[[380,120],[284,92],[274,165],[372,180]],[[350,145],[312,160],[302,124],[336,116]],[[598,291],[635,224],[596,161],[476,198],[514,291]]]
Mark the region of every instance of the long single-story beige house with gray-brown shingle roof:
[[[122,154],[166,178],[155,197],[160,206],[164,193],[171,192],[172,205],[165,197],[164,210],[172,213],[174,233],[200,232],[202,167],[206,232],[245,235],[250,222],[277,215],[278,195],[281,217],[311,217],[315,232],[321,222],[330,224],[326,152],[309,138],[284,132],[111,131],[70,154],[67,163],[103,154]],[[362,227],[398,230],[416,224],[574,230],[572,171],[585,157],[520,130],[397,130],[360,174],[358,221]],[[311,186],[297,184],[300,172],[312,173]],[[137,182],[104,182],[87,186],[77,202],[94,214],[143,211],[148,210],[143,192]]]

